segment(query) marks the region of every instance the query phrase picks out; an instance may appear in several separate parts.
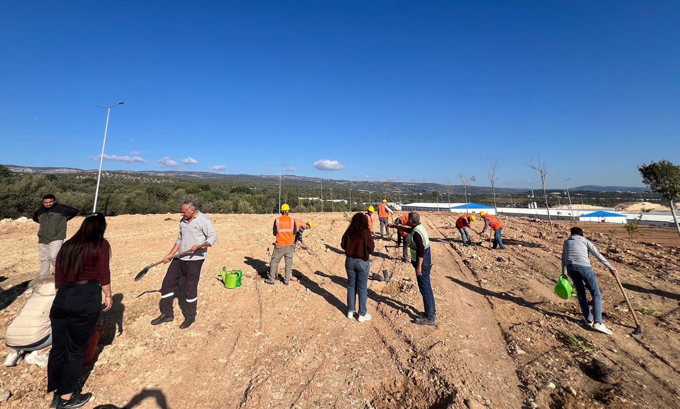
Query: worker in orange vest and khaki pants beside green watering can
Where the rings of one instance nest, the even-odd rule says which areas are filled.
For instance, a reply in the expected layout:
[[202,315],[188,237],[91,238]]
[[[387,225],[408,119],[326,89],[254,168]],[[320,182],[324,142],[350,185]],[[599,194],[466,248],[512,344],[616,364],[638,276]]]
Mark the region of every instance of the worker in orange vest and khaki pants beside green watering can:
[[286,273],[283,281],[285,285],[290,283],[293,253],[295,251],[295,234],[298,228],[295,219],[290,217],[289,213],[290,206],[284,203],[281,206],[281,215],[274,220],[273,235],[276,236],[276,243],[274,243],[274,251],[271,253],[269,262],[269,276],[265,279],[267,284],[273,285],[275,283],[276,270],[279,268],[282,257],[286,261]]

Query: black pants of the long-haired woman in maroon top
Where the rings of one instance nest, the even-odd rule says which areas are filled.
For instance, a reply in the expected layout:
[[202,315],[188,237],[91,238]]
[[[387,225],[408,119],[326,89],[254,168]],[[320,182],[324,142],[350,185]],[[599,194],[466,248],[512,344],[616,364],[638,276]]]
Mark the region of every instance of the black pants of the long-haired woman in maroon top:
[[58,395],[75,392],[85,352],[101,312],[101,287],[97,281],[63,284],[50,309],[52,350],[47,363],[47,391]]

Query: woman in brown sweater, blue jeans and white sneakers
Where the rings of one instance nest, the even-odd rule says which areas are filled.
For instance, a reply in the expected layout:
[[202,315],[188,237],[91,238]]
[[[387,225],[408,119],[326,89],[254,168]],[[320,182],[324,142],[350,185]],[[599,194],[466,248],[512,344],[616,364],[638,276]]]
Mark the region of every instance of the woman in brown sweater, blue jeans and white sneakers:
[[369,256],[375,249],[369,221],[363,213],[352,216],[350,227],[342,236],[340,243],[345,250],[345,271],[347,271],[347,318],[354,318],[356,296],[359,296],[359,322],[369,321],[371,314],[366,310],[368,296]]

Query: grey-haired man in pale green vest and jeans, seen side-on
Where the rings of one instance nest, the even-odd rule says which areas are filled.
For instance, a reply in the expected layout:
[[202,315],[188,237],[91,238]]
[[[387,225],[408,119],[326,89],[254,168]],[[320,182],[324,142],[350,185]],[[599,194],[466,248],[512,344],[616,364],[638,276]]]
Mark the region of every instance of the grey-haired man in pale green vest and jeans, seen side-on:
[[415,279],[418,281],[418,289],[423,296],[425,313],[423,317],[416,318],[418,325],[435,325],[437,310],[435,309],[435,294],[432,293],[430,283],[430,270],[432,269],[432,253],[430,251],[430,237],[425,227],[420,224],[420,215],[412,211],[406,226],[392,225],[397,230],[407,232],[405,240],[411,250],[411,264],[415,268]]

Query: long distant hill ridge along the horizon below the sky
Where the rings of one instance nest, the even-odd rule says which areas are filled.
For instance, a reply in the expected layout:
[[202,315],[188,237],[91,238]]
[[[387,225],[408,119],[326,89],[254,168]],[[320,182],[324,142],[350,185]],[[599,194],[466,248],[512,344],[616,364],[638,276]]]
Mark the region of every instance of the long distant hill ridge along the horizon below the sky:
[[[71,173],[91,173],[96,172],[97,169],[78,169],[78,168],[57,168],[57,167],[41,167],[41,166],[18,166],[12,164],[5,165],[10,171],[15,173],[34,173],[34,174],[71,174]],[[265,185],[276,185],[279,183],[279,175],[224,175],[222,173],[214,172],[194,172],[194,171],[182,171],[182,170],[169,170],[169,171],[104,171],[105,173],[120,173],[120,174],[142,174],[154,177],[176,177],[182,179],[220,179],[225,182],[231,183],[254,183],[254,184],[265,184]],[[318,185],[318,177],[307,177],[307,176],[297,176],[297,175],[284,175],[284,180],[286,183],[291,183],[294,181],[296,184],[301,186],[313,186]],[[442,185],[440,183],[428,183],[428,182],[401,182],[401,181],[349,181],[343,179],[326,179],[324,178],[324,188],[339,188],[348,189],[352,186],[352,189],[359,190],[370,190],[371,192],[383,192],[384,190],[389,190],[390,192],[432,192],[433,190],[439,190],[439,192],[444,196],[446,192],[449,191],[452,194],[460,194],[463,192],[462,185]],[[631,188],[624,186],[596,186],[596,185],[585,185],[577,186],[576,188],[570,188],[574,192],[577,191],[593,191],[593,192],[632,192],[632,193],[644,193],[645,188]],[[535,193],[538,194],[540,188],[534,189]],[[548,189],[551,191],[562,191],[562,189]],[[496,188],[496,194],[530,194],[531,190],[526,188]],[[488,186],[469,186],[469,194],[490,194],[491,188]]]

